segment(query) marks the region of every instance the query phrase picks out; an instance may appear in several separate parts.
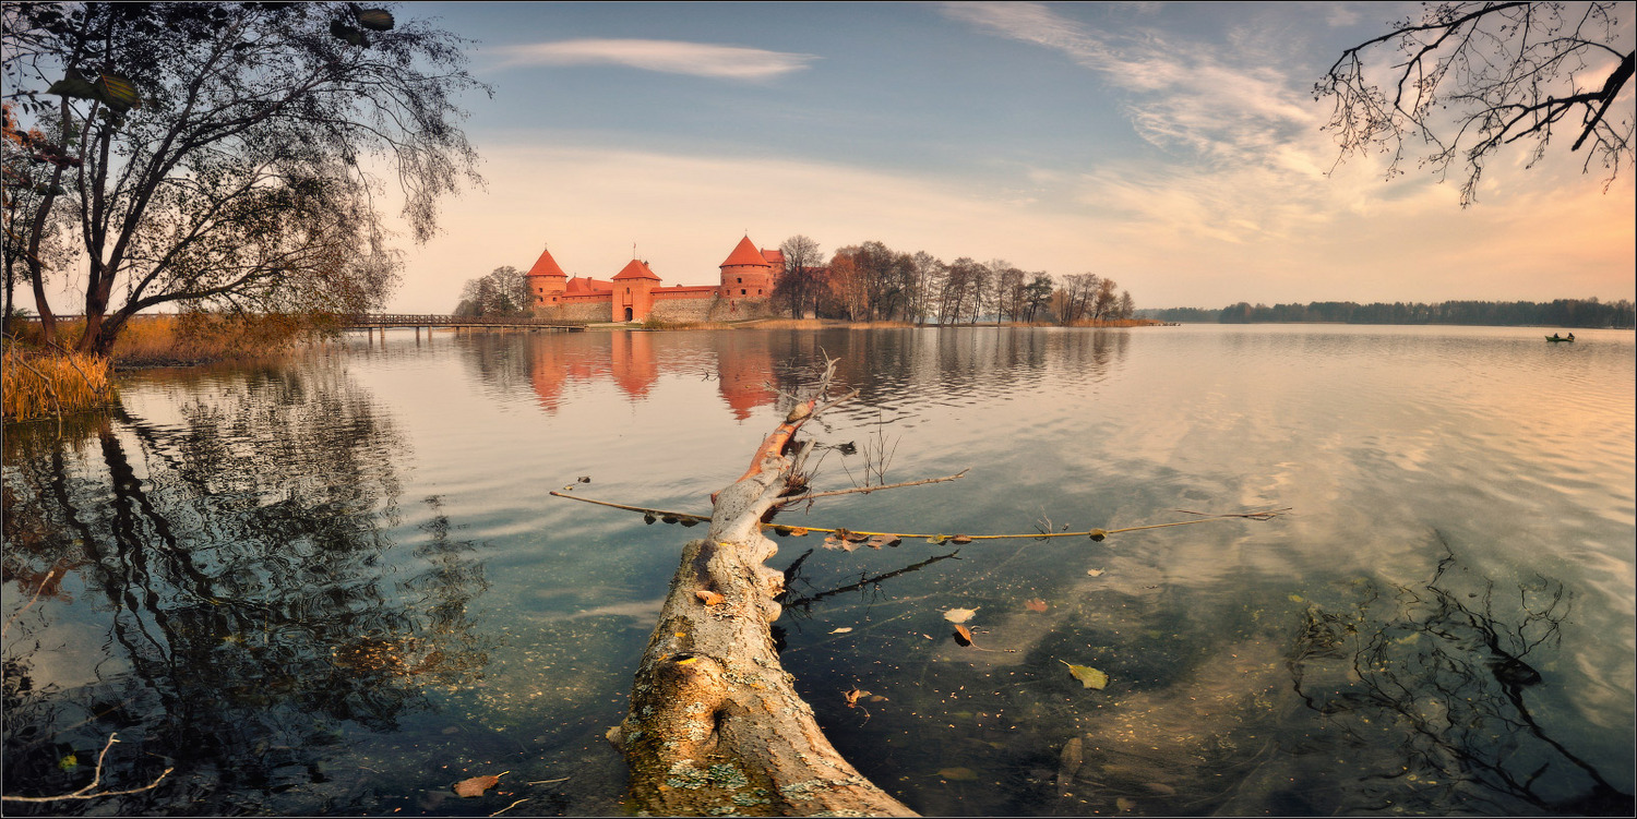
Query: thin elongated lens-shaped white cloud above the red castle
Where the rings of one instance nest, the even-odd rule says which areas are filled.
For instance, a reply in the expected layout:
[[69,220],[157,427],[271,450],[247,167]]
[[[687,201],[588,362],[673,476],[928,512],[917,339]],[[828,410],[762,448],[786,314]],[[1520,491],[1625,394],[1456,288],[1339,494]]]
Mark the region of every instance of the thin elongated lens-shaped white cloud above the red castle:
[[503,59],[501,67],[624,65],[727,80],[766,80],[802,70],[818,59],[814,54],[671,39],[565,39],[503,46],[493,54]]

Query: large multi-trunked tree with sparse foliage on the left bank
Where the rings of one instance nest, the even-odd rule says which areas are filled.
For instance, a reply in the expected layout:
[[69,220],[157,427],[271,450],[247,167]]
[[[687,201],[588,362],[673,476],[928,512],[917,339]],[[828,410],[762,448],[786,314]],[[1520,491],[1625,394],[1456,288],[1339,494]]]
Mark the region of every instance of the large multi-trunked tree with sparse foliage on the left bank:
[[[416,240],[476,180],[458,38],[357,3],[7,3],[7,101],[46,124],[21,258],[54,204],[85,255],[85,335],[106,351],[160,304],[282,312],[378,306],[396,281],[372,160]],[[36,286],[36,302],[47,306]],[[47,329],[49,332],[49,329]]]

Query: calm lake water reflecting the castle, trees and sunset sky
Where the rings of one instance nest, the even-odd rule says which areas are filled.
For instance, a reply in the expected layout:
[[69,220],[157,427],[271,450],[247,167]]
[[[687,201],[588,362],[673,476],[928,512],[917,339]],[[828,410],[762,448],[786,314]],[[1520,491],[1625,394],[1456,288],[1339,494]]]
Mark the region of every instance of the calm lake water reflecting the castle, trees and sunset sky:
[[828,353],[861,394],[809,427],[818,489],[971,471],[782,523],[1292,510],[781,539],[784,665],[912,808],[1629,814],[1634,337],[1578,335],[403,330],[131,374],[5,430],[5,791],[88,785],[113,732],[100,788],[175,770],[7,811],[627,812],[602,734],[702,530],[548,492],[707,512]]

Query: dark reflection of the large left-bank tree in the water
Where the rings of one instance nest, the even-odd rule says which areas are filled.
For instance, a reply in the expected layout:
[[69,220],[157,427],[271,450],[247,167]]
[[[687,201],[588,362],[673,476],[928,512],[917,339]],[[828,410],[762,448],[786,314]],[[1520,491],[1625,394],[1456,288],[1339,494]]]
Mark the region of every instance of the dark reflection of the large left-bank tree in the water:
[[41,812],[344,808],[367,773],[331,765],[349,729],[486,662],[473,544],[434,517],[411,559],[381,531],[406,453],[370,397],[339,368],[216,378],[180,423],[7,430],[3,579],[54,602],[8,624],[7,794],[87,785],[115,731],[103,788],[177,765]]

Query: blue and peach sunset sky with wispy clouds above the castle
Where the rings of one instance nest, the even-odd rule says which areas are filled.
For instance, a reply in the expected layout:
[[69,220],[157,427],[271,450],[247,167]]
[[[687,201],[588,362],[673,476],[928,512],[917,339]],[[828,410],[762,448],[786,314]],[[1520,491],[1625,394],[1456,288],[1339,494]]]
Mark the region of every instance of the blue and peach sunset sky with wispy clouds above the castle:
[[[1313,85],[1419,3],[408,3],[470,43],[483,186],[388,302],[542,248],[709,284],[743,235],[1097,273],[1138,307],[1634,298],[1634,177],[1558,137],[1459,178],[1337,165]],[[1627,13],[1630,8],[1627,7]],[[1624,21],[1626,49],[1632,23]],[[1616,110],[1632,116],[1634,85]]]

